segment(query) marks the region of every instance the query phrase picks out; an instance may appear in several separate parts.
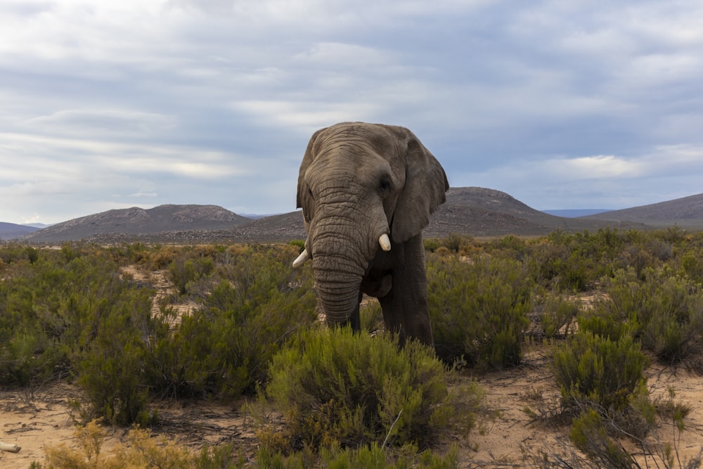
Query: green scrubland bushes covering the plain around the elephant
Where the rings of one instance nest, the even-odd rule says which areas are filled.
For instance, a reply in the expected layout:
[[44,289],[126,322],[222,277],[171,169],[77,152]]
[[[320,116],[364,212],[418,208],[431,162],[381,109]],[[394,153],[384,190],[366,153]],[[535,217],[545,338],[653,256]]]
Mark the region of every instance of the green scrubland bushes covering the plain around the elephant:
[[[1,245],[0,385],[68,380],[83,392],[79,449],[48,449],[34,466],[458,467],[446,436],[470,446],[490,413],[479,385],[458,377],[516,366],[539,341],[561,399],[526,411],[564,425],[580,451],[572,467],[638,467],[624,440],[659,467],[699,467],[676,457],[675,439],[645,444],[662,419],[685,431],[690,409],[650,399],[644,372],[651,361],[703,371],[703,234],[451,236],[425,248],[436,352],[399,348],[373,301],[361,334],[321,326],[309,266],[290,268],[299,243]],[[155,308],[157,272],[172,290]],[[592,307],[586,292],[598,292]],[[186,300],[190,311],[174,307]],[[257,416],[249,452],[193,453],[132,430],[127,446],[100,453],[96,421],[148,429],[163,399],[242,398]],[[548,449],[531,457],[567,467]]]

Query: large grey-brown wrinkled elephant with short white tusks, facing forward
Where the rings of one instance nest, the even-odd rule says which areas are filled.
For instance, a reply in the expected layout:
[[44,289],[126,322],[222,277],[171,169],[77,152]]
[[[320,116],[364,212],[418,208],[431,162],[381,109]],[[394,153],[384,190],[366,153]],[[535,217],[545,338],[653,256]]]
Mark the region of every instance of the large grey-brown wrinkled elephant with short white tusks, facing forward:
[[408,129],[342,122],[316,131],[298,174],[304,250],[329,326],[361,329],[363,293],[377,297],[399,343],[432,347],[422,230],[446,201],[444,168]]

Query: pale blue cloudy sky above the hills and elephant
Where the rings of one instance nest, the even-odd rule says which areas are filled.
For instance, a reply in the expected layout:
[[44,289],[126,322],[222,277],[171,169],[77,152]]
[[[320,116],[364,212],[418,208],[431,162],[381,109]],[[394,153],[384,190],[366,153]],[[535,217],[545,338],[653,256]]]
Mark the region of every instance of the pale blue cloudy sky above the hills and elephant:
[[411,129],[538,210],[703,192],[703,3],[0,0],[0,221],[295,210],[311,134]]

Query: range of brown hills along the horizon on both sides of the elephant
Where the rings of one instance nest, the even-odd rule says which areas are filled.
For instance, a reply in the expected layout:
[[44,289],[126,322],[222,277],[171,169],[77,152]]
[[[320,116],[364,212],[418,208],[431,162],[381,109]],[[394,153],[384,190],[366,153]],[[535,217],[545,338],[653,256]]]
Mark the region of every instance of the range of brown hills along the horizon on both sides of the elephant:
[[[574,211],[569,211],[573,215]],[[447,201],[432,215],[424,233],[444,237],[450,233],[471,236],[541,236],[555,229],[596,231],[656,229],[662,226],[703,229],[703,194],[667,202],[611,210],[581,217],[540,212],[507,193],[479,187],[451,188]],[[62,243],[89,240],[119,243],[274,242],[305,236],[299,211],[252,219],[217,205],[160,205],[148,210],[132,207],[80,217],[44,229],[0,223],[0,238],[27,243]]]

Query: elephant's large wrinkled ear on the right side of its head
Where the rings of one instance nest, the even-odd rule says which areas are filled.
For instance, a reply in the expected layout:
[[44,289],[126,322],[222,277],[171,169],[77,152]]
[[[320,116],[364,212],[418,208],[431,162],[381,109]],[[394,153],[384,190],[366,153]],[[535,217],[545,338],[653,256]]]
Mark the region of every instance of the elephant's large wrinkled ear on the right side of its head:
[[420,233],[430,223],[430,214],[445,202],[449,190],[444,168],[413,134],[408,140],[405,164],[405,186],[391,224],[391,236],[396,243]]

